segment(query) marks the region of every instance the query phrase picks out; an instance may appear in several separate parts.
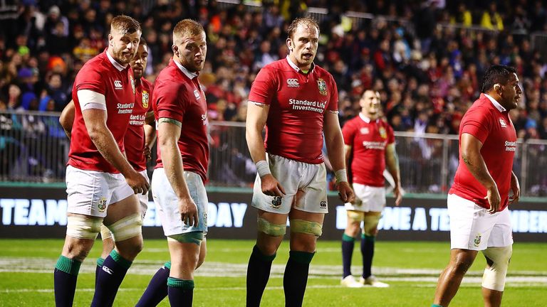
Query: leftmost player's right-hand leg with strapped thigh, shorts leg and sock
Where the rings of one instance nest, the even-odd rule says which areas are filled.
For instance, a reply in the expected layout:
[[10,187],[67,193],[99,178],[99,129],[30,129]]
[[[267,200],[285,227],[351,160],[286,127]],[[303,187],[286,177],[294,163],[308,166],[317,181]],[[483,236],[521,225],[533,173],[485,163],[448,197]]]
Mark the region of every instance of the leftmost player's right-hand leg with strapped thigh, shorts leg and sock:
[[115,249],[105,258],[95,283],[91,306],[109,306],[137,254],[142,250],[142,215],[137,195],[120,174],[111,174],[112,200],[103,221],[112,232]]

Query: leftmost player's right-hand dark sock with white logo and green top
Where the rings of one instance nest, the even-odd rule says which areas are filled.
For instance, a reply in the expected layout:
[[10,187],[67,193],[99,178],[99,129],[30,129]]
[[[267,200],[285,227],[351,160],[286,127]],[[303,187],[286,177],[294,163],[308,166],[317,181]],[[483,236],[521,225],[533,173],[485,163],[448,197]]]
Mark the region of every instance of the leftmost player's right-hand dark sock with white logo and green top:
[[97,275],[95,282],[95,295],[91,302],[92,307],[112,306],[111,304],[118,293],[127,269],[132,262],[123,257],[113,249],[110,255],[103,262],[103,267]]

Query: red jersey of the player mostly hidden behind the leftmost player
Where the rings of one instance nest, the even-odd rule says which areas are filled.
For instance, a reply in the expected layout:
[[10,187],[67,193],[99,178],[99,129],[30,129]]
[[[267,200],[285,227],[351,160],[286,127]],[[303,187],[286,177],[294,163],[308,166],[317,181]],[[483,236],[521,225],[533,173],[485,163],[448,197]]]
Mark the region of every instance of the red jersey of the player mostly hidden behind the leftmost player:
[[135,80],[135,107],[129,120],[129,126],[123,140],[127,161],[135,171],[146,169],[145,119],[152,107],[152,83],[141,77]]

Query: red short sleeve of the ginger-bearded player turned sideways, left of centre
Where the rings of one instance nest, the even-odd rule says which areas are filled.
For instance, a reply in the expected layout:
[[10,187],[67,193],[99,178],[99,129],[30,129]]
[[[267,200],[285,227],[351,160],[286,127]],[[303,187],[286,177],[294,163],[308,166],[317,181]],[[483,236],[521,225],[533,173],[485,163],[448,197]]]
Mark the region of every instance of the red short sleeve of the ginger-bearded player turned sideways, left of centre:
[[176,82],[155,88],[152,97],[157,106],[157,118],[170,118],[182,122],[189,101],[187,92],[184,85]]

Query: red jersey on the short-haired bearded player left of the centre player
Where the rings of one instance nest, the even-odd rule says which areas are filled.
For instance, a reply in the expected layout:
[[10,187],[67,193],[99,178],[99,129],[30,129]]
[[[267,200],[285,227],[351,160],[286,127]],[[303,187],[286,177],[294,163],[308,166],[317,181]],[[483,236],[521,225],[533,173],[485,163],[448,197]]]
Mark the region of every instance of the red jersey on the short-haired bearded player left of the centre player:
[[[207,102],[197,77],[190,79],[171,59],[169,65],[157,76],[152,108],[156,121],[166,117],[182,123],[178,145],[184,171],[197,173],[206,181],[209,163]],[[158,146],[156,168],[162,167]]]

